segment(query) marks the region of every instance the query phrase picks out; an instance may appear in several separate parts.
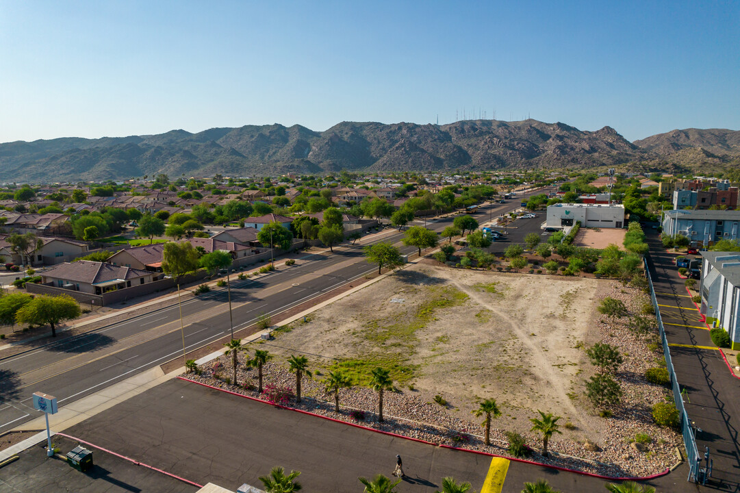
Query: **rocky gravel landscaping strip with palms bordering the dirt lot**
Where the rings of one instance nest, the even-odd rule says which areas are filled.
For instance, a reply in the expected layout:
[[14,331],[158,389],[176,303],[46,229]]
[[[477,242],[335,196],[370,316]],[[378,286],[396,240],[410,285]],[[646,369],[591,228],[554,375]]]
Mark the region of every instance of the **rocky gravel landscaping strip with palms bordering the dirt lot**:
[[[648,300],[639,289],[617,281],[601,281],[598,297],[605,296],[622,300],[628,307],[630,315],[639,313],[642,304]],[[553,453],[551,457],[545,458],[539,454],[541,437],[534,432],[525,432],[522,435],[534,449],[530,458],[539,463],[612,477],[639,477],[663,472],[676,462],[675,447],[681,448],[682,440],[679,433],[656,426],[650,414],[650,408],[654,403],[670,398],[668,389],[647,383],[643,376],[646,369],[659,366],[662,360],[659,352],[648,349],[648,343],[657,341],[657,335],[656,333],[642,337],[634,335],[627,328],[627,318],[613,322],[602,317],[595,321],[594,330],[598,332],[597,339],[618,346],[625,358],[616,375],[616,380],[624,392],[623,403],[617,409],[613,409],[613,417],[599,418],[603,423],[603,431],[599,435],[604,438],[596,444],[598,451],[587,449],[585,443],[555,435],[549,443],[549,449]],[[264,395],[258,395],[255,390],[257,371],[243,365],[243,355],[239,358],[238,380],[242,384],[240,386],[224,381],[232,377],[230,357],[222,356],[218,360],[212,360],[201,367],[201,375],[190,376],[232,392],[264,398]],[[290,392],[295,389],[295,375],[289,373],[284,364],[268,363],[263,372],[266,386],[271,384],[290,389]],[[583,375],[584,381],[587,377],[588,375]],[[505,430],[494,428],[495,420],[491,429],[491,446],[485,446],[481,436],[482,418],[479,420],[470,415],[469,420],[463,419],[460,415],[453,415],[451,409],[437,403],[426,402],[417,392],[406,389],[386,392],[383,406],[386,419],[383,423],[376,422],[377,393],[361,387],[340,390],[342,409],[337,415],[334,412],[334,396],[324,391],[321,378],[321,375],[303,378],[303,402],[296,403],[295,398],[290,398],[286,405],[348,422],[356,422],[351,416],[351,411],[359,409],[365,414],[364,420],[359,422],[363,426],[433,443],[508,455]],[[575,400],[584,412],[593,413],[593,409],[582,396]],[[636,433],[650,436],[651,441],[647,443],[647,449],[643,452],[636,450],[630,443]]]

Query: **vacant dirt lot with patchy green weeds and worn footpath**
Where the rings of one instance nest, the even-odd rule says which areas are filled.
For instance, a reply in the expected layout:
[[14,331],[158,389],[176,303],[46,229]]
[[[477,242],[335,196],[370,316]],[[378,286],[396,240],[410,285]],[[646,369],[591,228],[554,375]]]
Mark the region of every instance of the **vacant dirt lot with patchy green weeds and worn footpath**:
[[360,381],[383,365],[397,386],[428,401],[440,395],[462,419],[495,398],[499,428],[525,432],[542,409],[596,440],[600,418],[568,395],[591,372],[581,348],[596,341],[589,329],[598,292],[595,279],[417,265],[326,306],[278,335],[270,351],[306,352]]

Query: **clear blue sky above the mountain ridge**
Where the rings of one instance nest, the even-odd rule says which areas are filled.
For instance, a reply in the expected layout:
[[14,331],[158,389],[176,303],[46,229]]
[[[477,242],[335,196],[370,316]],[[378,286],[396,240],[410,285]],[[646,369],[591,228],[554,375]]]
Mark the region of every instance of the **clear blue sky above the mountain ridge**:
[[0,0],[0,142],[483,111],[740,130],[740,1]]

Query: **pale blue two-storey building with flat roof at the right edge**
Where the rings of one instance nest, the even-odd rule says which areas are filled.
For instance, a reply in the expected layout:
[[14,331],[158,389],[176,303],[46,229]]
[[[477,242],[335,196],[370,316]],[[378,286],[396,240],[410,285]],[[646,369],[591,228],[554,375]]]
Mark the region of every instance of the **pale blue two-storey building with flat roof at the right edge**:
[[719,240],[740,238],[740,211],[669,210],[663,219],[663,234],[684,235],[693,245],[711,246]]

